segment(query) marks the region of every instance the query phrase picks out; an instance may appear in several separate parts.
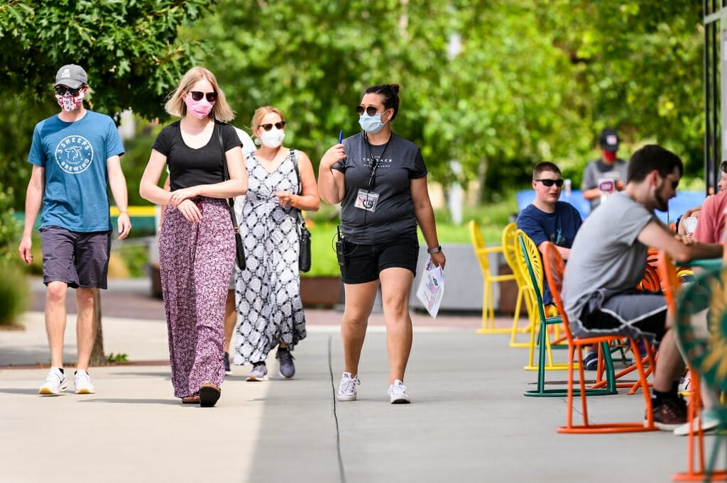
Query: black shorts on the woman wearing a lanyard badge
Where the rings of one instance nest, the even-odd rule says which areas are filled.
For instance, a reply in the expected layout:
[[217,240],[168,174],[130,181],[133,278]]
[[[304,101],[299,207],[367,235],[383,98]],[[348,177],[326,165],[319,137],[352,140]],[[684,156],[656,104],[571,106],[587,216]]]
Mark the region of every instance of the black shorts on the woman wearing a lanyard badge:
[[417,235],[394,238],[373,245],[346,243],[346,264],[341,267],[343,283],[366,283],[379,279],[387,268],[405,268],[417,275]]

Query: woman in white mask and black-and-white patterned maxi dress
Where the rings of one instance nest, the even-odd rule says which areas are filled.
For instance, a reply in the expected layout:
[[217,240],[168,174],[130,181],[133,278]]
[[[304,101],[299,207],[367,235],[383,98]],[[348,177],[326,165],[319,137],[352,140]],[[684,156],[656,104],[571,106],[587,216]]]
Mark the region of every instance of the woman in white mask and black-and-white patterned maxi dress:
[[[265,360],[278,346],[280,376],[295,373],[290,353],[305,338],[305,314],[298,275],[299,211],[320,205],[316,175],[308,155],[282,145],[283,113],[275,107],[258,108],[252,133],[260,149],[246,158],[249,190],[241,232],[246,269],[237,272],[236,365],[253,365],[248,381],[265,381]],[[299,184],[300,179],[300,184]]]

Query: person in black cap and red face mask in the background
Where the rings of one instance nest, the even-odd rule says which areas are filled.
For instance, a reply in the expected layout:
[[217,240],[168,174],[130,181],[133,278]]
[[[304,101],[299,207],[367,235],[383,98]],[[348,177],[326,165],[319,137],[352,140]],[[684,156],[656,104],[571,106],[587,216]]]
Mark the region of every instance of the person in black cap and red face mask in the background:
[[581,183],[583,198],[590,200],[591,211],[601,205],[608,195],[626,186],[627,163],[616,158],[619,150],[616,129],[603,129],[598,137],[598,145],[601,146],[601,158],[587,164]]

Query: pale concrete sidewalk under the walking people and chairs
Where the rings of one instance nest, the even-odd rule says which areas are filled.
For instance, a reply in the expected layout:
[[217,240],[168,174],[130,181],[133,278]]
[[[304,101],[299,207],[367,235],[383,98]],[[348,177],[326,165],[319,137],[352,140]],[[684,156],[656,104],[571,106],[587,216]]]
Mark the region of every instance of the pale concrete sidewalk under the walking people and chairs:
[[[526,350],[510,349],[507,336],[475,334],[478,317],[414,319],[411,405],[388,403],[380,314],[364,346],[358,401],[335,402],[340,313],[308,311],[294,379],[247,383],[249,367],[233,367],[217,407],[203,409],[172,395],[163,320],[105,316],[106,352],[145,362],[92,368],[97,394],[77,396],[71,381],[62,396],[39,397],[47,368],[0,370],[0,482],[668,482],[686,469],[686,439],[667,432],[557,434],[565,399],[523,397],[536,377],[523,370]],[[0,332],[0,366],[47,362],[42,314],[28,312],[25,325]],[[595,421],[643,417],[641,394],[590,400]]]

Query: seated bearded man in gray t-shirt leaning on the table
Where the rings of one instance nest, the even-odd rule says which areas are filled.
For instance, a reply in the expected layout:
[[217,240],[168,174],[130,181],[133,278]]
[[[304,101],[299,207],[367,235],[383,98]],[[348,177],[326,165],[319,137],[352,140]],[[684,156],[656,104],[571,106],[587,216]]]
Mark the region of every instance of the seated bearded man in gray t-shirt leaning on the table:
[[680,158],[657,145],[636,151],[623,192],[610,196],[588,217],[571,248],[563,279],[563,304],[574,336],[622,334],[659,344],[651,401],[654,423],[674,429],[686,422],[678,395],[684,362],[667,322],[662,293],[636,290],[649,247],[677,261],[718,257],[722,245],[691,243],[654,215],[666,211],[683,174]]

